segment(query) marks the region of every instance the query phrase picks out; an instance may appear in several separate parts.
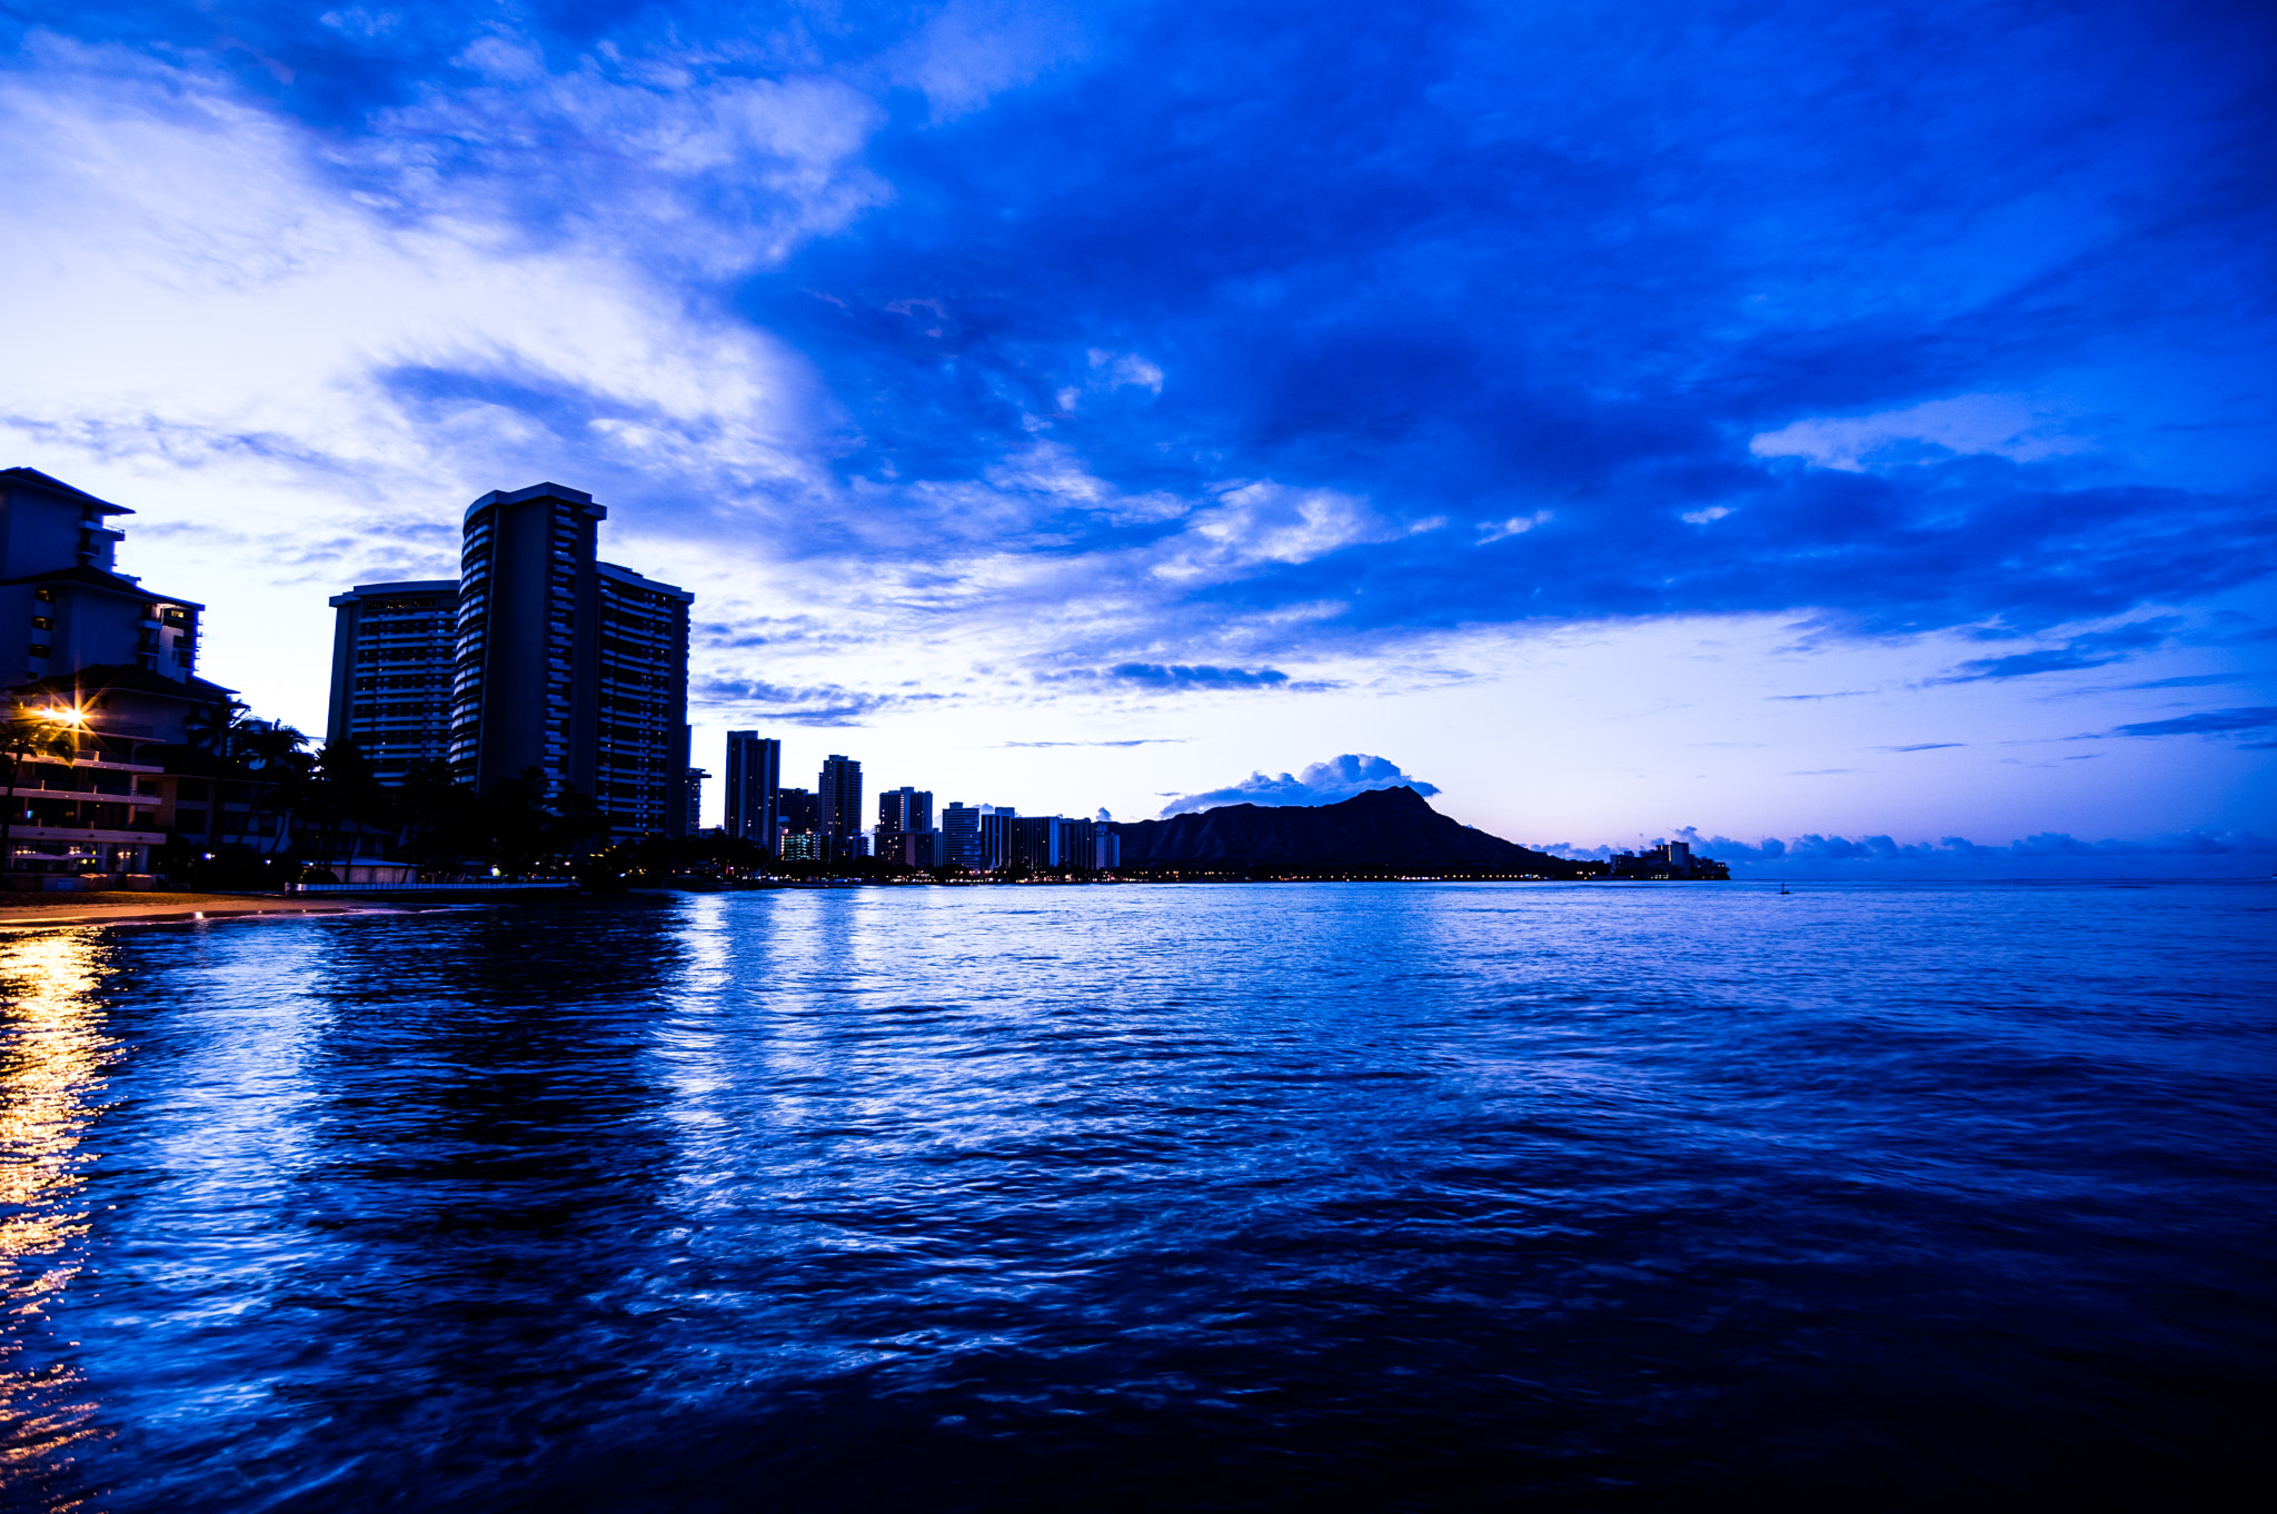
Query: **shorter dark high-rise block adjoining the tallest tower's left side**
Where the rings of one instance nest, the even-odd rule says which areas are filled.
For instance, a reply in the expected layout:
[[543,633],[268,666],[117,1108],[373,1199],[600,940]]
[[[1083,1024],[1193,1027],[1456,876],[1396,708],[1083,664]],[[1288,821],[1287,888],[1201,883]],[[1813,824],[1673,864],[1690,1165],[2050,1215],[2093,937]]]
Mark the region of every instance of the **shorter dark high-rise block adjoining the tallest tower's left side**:
[[451,756],[458,581],[360,583],[332,594],[326,742],[353,742],[380,783]]

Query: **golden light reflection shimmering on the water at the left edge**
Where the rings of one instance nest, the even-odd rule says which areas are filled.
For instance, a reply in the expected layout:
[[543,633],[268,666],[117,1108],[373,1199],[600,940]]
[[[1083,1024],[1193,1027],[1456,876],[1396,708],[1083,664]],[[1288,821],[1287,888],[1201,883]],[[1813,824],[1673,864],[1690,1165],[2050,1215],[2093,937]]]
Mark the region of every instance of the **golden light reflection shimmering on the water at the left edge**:
[[[84,1138],[118,1054],[96,993],[98,931],[0,938],[0,1489],[43,1496],[96,1439],[87,1377],[57,1359],[50,1309],[87,1264]],[[68,1346],[68,1343],[64,1343]]]

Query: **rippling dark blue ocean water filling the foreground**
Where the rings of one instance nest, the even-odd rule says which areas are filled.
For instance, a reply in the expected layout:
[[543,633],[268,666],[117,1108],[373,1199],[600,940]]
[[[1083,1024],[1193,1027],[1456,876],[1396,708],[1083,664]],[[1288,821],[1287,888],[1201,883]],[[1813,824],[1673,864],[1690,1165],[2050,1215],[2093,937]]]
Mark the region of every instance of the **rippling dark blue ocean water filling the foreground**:
[[7,1498],[2266,1507],[2272,886],[0,940]]

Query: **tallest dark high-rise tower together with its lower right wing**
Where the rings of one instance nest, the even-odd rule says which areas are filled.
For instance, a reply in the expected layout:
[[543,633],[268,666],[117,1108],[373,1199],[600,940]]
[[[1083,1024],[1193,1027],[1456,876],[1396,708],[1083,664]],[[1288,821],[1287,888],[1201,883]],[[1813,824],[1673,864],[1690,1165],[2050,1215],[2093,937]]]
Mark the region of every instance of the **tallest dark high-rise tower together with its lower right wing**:
[[603,505],[542,483],[467,505],[451,772],[537,772],[592,795],[617,836],[679,836],[688,806],[688,606],[597,558]]

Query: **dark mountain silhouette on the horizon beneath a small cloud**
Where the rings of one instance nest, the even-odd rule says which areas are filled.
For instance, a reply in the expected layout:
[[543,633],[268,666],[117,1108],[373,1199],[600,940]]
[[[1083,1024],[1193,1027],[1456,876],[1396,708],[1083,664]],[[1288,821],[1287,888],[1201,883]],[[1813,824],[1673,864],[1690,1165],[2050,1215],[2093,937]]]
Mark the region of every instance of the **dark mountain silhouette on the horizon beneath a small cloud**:
[[1339,804],[1220,804],[1198,815],[1136,820],[1123,833],[1125,867],[1277,865],[1321,872],[1532,872],[1573,877],[1548,851],[1448,820],[1412,788],[1375,788]]

